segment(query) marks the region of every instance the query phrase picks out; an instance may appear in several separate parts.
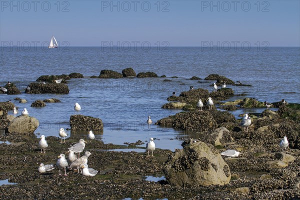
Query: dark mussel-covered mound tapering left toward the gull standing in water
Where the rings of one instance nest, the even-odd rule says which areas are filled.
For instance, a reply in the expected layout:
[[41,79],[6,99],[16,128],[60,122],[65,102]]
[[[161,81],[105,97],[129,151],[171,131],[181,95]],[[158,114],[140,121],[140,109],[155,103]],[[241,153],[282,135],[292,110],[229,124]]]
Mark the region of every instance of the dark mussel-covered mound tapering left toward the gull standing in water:
[[159,119],[155,124],[197,131],[205,131],[217,127],[217,123],[209,111],[179,112],[175,115]]

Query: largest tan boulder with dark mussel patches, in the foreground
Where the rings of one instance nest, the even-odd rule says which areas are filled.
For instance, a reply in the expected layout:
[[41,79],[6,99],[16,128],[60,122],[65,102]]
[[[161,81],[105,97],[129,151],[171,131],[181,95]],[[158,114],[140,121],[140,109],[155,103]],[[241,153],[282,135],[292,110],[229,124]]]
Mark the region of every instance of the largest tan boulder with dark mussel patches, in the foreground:
[[218,152],[204,142],[189,140],[183,149],[175,151],[166,161],[166,180],[175,186],[207,186],[229,183],[229,166]]

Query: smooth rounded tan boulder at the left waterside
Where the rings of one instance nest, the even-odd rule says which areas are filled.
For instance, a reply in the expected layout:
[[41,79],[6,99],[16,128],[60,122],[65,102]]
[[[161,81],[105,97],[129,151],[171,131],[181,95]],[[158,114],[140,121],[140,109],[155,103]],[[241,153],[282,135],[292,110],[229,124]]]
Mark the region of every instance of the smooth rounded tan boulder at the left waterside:
[[20,115],[9,122],[8,132],[33,133],[39,125],[39,121],[33,116]]

